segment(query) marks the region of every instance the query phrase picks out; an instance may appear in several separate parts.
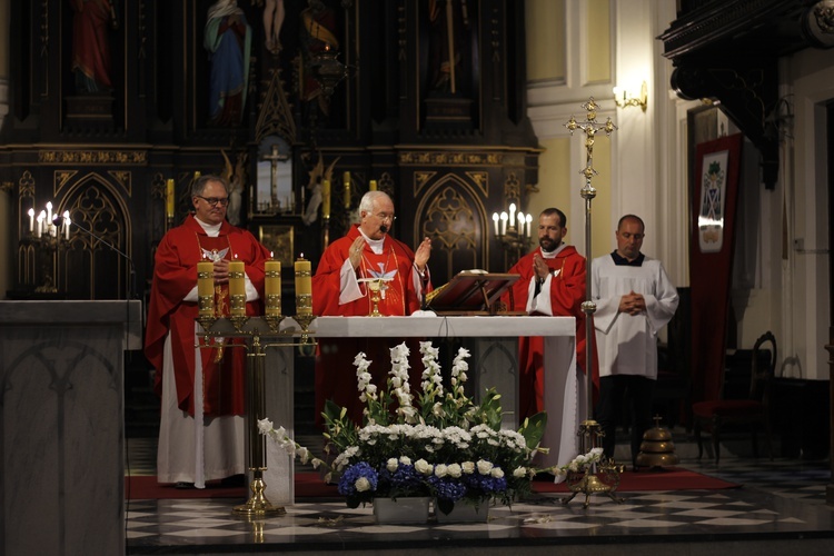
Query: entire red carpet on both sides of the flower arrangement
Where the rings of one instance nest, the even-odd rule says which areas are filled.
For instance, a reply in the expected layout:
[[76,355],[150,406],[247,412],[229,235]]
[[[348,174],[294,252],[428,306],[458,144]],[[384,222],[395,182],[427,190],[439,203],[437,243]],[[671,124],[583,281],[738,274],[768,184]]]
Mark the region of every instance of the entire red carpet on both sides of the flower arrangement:
[[[666,469],[642,470],[639,473],[625,471],[620,475],[617,492],[634,493],[645,490],[716,490],[722,488],[737,488],[738,485],[716,479],[699,473],[669,467]],[[549,480],[534,480],[535,493],[567,493],[564,484]],[[244,487],[226,487],[209,483],[206,488],[181,489],[173,485],[160,485],[155,476],[125,477],[125,496],[133,500],[162,498],[249,498],[249,492]],[[296,498],[339,498],[336,485],[326,485],[318,473],[296,474]]]

